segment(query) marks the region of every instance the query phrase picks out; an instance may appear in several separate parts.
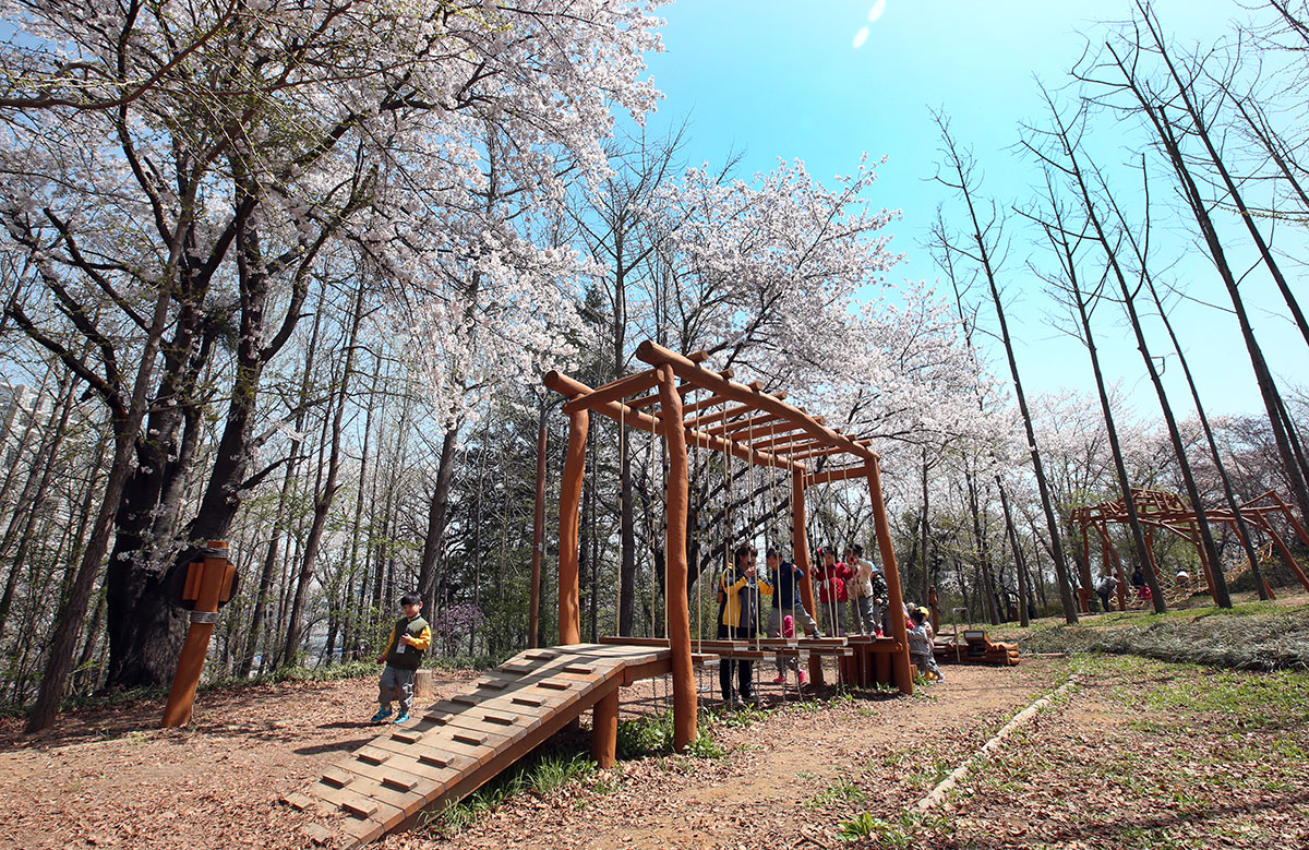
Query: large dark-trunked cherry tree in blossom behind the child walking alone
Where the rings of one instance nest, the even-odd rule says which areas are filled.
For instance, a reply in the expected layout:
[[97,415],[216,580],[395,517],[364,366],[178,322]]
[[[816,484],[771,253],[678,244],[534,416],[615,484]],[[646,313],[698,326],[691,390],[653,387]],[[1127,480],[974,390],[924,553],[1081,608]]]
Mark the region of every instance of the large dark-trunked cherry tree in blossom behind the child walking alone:
[[[513,244],[479,215],[486,161],[512,176],[520,208],[602,172],[611,110],[654,103],[640,72],[657,21],[622,0],[5,10],[22,38],[0,83],[0,219],[30,259],[5,312],[115,422],[56,642],[85,613],[117,517],[109,621],[128,631],[111,634],[111,682],[158,681],[181,626],[175,564],[188,541],[221,537],[271,471],[253,466],[260,377],[304,314],[315,265],[353,244],[377,279],[424,303],[442,299],[437,266],[452,253],[476,245],[470,262],[511,265]],[[491,135],[504,140],[493,153]],[[161,525],[219,339],[233,352],[215,464],[190,521]],[[34,727],[54,714],[68,657],[51,654]]]

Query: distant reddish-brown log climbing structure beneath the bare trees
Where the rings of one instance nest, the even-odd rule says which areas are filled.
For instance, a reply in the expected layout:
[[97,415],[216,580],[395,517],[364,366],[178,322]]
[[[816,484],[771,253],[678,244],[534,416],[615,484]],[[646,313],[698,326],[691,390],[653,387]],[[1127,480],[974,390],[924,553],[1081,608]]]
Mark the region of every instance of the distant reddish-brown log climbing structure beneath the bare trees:
[[[1152,570],[1160,579],[1160,587],[1164,589],[1165,605],[1177,605],[1200,592],[1210,593],[1213,602],[1217,604],[1217,596],[1212,582],[1212,567],[1204,553],[1204,547],[1200,545],[1195,509],[1175,492],[1149,490],[1145,487],[1132,487],[1132,504],[1136,508],[1138,519],[1141,525],[1145,527],[1145,551],[1151,559],[1149,563],[1141,566],[1145,570]],[[1291,554],[1291,549],[1287,546],[1283,534],[1278,532],[1274,520],[1280,519],[1285,524],[1285,528],[1291,529],[1305,546],[1309,546],[1309,534],[1305,533],[1304,527],[1291,512],[1291,508],[1282,499],[1282,496],[1270,490],[1241,504],[1240,511],[1241,517],[1249,528],[1258,530],[1267,537],[1268,542],[1264,546],[1264,551],[1271,553],[1271,547],[1275,547],[1282,555],[1283,563],[1287,564],[1287,568],[1291,570],[1296,579],[1299,579],[1300,584],[1309,591],[1309,578],[1305,576],[1305,572],[1296,562],[1295,555]],[[1230,525],[1232,530],[1240,536],[1241,532],[1237,524],[1237,517],[1230,508],[1206,508],[1204,516],[1210,524]],[[1073,508],[1072,521],[1081,529],[1083,551],[1085,553],[1085,557],[1081,561],[1081,588],[1079,588],[1077,592],[1083,613],[1088,613],[1090,610],[1092,587],[1094,584],[1090,578],[1092,529],[1094,529],[1094,533],[1100,538],[1103,572],[1111,574],[1118,579],[1118,610],[1141,608],[1143,601],[1135,599],[1135,593],[1131,592],[1131,585],[1123,572],[1122,559],[1118,557],[1118,551],[1114,549],[1113,541],[1109,536],[1110,523],[1127,523],[1127,506],[1123,499]],[[1155,563],[1152,546],[1156,529],[1172,532],[1194,545],[1199,553],[1203,575],[1186,576],[1183,579],[1178,579],[1177,576],[1160,576],[1158,564]],[[1232,580],[1237,574],[1249,568],[1249,561],[1241,558],[1236,563],[1236,572],[1228,575],[1228,580]],[[1264,583],[1264,588],[1271,596],[1272,588],[1267,587],[1267,583]]]

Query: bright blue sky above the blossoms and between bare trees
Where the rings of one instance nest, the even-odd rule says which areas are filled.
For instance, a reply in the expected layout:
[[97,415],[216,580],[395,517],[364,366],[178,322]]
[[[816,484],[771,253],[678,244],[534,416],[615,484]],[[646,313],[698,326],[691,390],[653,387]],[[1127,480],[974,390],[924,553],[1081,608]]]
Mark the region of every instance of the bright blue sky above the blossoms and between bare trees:
[[[891,279],[932,280],[937,272],[923,242],[937,206],[949,210],[949,196],[931,182],[939,138],[929,107],[944,109],[957,141],[974,148],[983,189],[1004,206],[1022,203],[1037,174],[1013,145],[1018,123],[1041,115],[1034,76],[1051,88],[1063,85],[1081,52],[1079,30],[1126,18],[1130,9],[1130,0],[678,0],[660,9],[668,21],[666,52],[649,65],[665,101],[649,123],[658,132],[689,117],[687,160],[716,164],[728,151],[744,152],[744,174],[772,169],[780,157],[802,158],[810,173],[829,177],[852,172],[864,151],[873,160],[888,156],[876,202],[903,211],[890,231],[893,248],[908,254]],[[1234,0],[1160,0],[1156,9],[1182,43],[1210,42],[1228,21],[1247,16]],[[1131,158],[1130,145],[1117,136],[1111,141],[1111,156]],[[1162,194],[1162,182],[1157,191]],[[1046,320],[1049,299],[1024,271],[1029,255],[1039,259],[1014,231],[1007,280],[1024,381],[1029,392],[1092,390],[1084,350]],[[1189,251],[1175,274],[1190,279],[1202,300],[1225,301],[1198,250]],[[1309,350],[1284,318],[1271,282],[1251,275],[1242,292],[1261,308],[1257,330],[1279,379],[1304,385]],[[1136,413],[1155,418],[1157,402],[1130,331],[1110,318],[1106,310],[1097,329],[1107,369]],[[1207,376],[1206,407],[1262,410],[1234,318],[1183,304],[1174,322],[1185,329],[1192,369]],[[1162,352],[1166,341],[1156,342]],[[1007,375],[999,356],[992,352],[995,367]],[[1181,369],[1173,365],[1165,375],[1179,380]],[[1179,403],[1185,388],[1174,386],[1170,397]]]

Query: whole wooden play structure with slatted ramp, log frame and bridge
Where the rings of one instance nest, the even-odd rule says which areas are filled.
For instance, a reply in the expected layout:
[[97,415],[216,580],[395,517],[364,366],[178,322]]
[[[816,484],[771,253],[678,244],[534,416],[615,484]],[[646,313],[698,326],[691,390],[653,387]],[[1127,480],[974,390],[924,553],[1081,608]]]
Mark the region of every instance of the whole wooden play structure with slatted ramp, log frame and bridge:
[[[467,693],[431,706],[416,723],[387,730],[302,791],[288,795],[288,804],[317,817],[306,829],[309,838],[355,847],[410,826],[423,812],[440,811],[471,794],[586,710],[593,712],[592,753],[607,767],[614,761],[619,689],[641,678],[670,674],[674,747],[686,749],[696,736],[694,665],[709,656],[805,655],[810,671],[819,676],[821,657],[836,656],[838,674],[847,684],[889,682],[912,693],[899,572],[878,456],[868,441],[825,427],[822,418],[787,405],[784,393],[764,393],[758,384],[733,381],[730,371],[706,368],[703,352],[683,356],[645,342],[636,356],[649,368],[596,389],[558,372],[545,380],[548,389],[565,397],[563,411],[569,426],[559,500],[559,646],[520,654]],[[635,428],[662,440],[668,638],[581,642],[579,519],[593,413],[617,422],[624,435]],[[692,639],[689,458],[699,449],[787,479],[792,557],[806,576],[800,591],[810,612],[816,608],[808,579],[805,490],[826,482],[865,482],[890,599],[890,637]],[[816,468],[819,464],[821,470]]]

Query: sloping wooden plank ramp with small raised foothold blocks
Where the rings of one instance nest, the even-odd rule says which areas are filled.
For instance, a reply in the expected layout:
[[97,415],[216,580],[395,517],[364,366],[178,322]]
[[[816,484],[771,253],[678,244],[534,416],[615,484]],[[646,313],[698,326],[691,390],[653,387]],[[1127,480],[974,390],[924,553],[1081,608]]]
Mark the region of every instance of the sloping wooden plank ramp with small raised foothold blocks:
[[528,650],[283,802],[317,816],[305,828],[314,843],[359,847],[453,805],[618,688],[666,673],[670,657],[598,643]]

